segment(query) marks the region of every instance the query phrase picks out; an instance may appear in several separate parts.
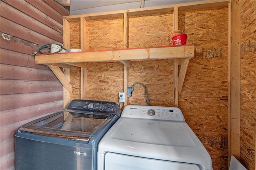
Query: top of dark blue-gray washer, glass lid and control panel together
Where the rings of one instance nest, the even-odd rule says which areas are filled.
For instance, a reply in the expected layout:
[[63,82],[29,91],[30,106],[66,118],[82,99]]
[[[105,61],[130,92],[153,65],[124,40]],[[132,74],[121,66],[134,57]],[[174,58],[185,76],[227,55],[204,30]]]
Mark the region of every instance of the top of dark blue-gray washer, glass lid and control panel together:
[[74,99],[66,110],[22,125],[18,130],[88,142],[95,134],[101,138],[119,117],[120,107],[114,102]]

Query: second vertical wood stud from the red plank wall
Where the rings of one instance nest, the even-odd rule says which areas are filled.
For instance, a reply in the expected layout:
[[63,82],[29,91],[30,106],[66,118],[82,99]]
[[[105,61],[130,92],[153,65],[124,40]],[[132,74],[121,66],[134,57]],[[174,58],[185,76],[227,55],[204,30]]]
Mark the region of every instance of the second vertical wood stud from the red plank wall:
[[[86,47],[86,20],[84,17],[80,18],[80,48],[82,51],[87,49]],[[87,90],[87,69],[81,67],[81,99],[86,99]]]

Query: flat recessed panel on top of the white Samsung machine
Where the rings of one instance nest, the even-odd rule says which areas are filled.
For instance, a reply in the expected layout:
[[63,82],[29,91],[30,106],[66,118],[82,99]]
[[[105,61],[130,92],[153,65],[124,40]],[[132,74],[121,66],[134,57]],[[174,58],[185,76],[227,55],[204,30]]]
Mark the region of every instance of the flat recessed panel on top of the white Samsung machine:
[[195,147],[186,123],[122,118],[111,138],[141,144]]

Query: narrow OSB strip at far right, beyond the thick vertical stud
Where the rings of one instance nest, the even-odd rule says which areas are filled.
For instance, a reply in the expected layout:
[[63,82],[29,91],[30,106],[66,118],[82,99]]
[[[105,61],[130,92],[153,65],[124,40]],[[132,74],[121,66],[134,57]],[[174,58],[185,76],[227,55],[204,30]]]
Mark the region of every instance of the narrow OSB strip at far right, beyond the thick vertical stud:
[[241,162],[255,169],[256,1],[241,2]]

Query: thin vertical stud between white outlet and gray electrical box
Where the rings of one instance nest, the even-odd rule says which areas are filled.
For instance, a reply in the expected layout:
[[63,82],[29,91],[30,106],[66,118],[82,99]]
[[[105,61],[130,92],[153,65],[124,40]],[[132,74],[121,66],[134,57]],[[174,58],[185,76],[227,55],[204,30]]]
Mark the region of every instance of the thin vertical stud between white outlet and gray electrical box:
[[[128,48],[128,14],[127,13],[124,13],[123,23],[124,23],[124,30],[123,30],[124,31],[124,48]],[[124,92],[126,94],[124,107],[128,105],[127,86],[128,86],[128,67],[124,65]]]

